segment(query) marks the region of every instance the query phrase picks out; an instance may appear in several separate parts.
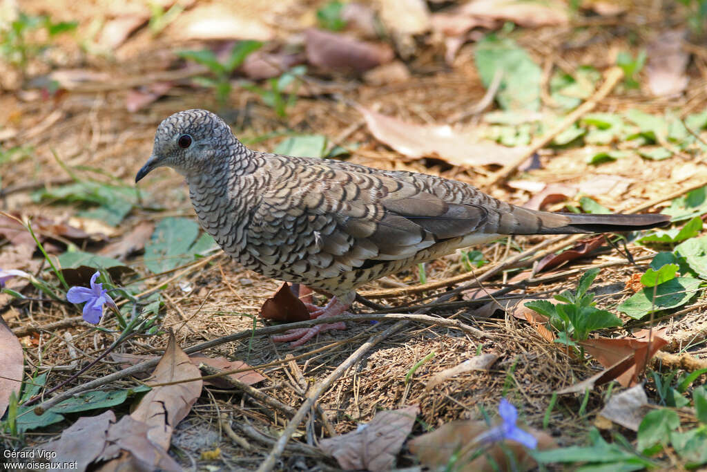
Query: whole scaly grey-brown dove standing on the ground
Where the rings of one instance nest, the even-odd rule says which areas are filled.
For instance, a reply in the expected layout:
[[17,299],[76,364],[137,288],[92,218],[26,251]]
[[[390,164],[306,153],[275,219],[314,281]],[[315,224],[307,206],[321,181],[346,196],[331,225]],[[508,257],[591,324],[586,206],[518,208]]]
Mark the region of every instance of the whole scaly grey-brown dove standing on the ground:
[[[332,298],[312,318],[345,313],[356,287],[513,234],[637,231],[663,214],[565,214],[511,205],[467,183],[244,146],[220,117],[185,110],[157,128],[136,183],[171,167],[189,186],[199,224],[243,267]],[[344,323],[274,336],[302,345]]]

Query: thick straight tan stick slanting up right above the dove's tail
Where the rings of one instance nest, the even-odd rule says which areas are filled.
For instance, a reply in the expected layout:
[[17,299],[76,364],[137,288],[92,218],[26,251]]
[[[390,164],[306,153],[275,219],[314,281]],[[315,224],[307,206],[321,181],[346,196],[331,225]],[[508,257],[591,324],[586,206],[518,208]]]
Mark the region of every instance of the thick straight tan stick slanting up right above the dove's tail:
[[530,156],[535,154],[539,149],[542,149],[544,146],[547,146],[549,142],[551,142],[555,137],[563,132],[567,127],[573,125],[573,123],[577,120],[580,119],[585,113],[590,112],[597,106],[597,103],[599,103],[601,100],[603,100],[609,93],[614,90],[614,87],[617,86],[619,81],[621,80],[621,77],[624,76],[624,71],[621,70],[620,67],[614,67],[612,69],[609,69],[609,71],[606,74],[606,79],[604,80],[604,84],[599,88],[599,90],[596,91],[596,93],[589,98],[589,100],[585,101],[585,103],[582,103],[582,105],[579,105],[575,110],[564,117],[562,122],[559,123],[556,127],[551,129],[550,132],[547,134],[544,134],[542,137],[539,137],[538,139],[534,139],[534,142],[530,144],[528,147],[527,151],[525,151],[522,155],[518,156],[515,161],[506,164],[506,166],[503,166],[500,171],[493,173],[491,175],[491,178],[486,181],[486,184],[484,185],[486,188],[492,187],[493,185],[496,185],[499,181],[505,179],[515,171],[520,164],[524,163]]

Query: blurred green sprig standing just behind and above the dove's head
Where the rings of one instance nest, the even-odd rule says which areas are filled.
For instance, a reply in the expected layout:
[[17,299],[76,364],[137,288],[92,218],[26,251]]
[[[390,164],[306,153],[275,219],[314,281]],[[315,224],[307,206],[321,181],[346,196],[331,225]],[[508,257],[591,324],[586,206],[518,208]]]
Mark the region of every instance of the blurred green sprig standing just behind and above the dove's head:
[[224,107],[231,90],[230,74],[232,74],[240,64],[243,64],[243,61],[245,61],[245,58],[248,57],[249,54],[255,52],[261,46],[262,42],[259,41],[240,41],[233,46],[233,49],[230,50],[230,54],[228,54],[228,57],[223,62],[219,62],[216,54],[209,50],[179,51],[177,55],[183,59],[197,62],[209,68],[211,73],[214,74],[214,77],[199,76],[195,77],[194,80],[203,86],[214,88],[216,91],[216,100],[221,107]]

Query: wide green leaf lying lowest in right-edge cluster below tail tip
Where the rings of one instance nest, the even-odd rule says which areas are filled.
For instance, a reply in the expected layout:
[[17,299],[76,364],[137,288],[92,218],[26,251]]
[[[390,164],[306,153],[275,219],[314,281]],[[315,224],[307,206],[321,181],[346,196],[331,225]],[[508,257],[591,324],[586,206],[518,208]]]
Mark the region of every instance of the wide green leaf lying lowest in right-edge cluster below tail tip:
[[[651,311],[665,310],[682,306],[697,292],[701,280],[693,277],[678,277],[655,287],[646,287],[633,294],[617,306],[617,310],[631,318],[640,320]],[[655,301],[653,291],[655,289]]]

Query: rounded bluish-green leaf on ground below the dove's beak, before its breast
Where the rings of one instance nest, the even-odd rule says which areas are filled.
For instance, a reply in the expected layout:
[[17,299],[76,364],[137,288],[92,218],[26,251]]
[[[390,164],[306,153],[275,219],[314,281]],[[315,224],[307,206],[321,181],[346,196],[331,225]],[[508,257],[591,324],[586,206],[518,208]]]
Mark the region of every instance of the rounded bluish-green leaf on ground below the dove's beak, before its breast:
[[199,225],[187,218],[165,218],[158,223],[145,246],[145,267],[158,274],[192,260],[189,253],[199,236]]

